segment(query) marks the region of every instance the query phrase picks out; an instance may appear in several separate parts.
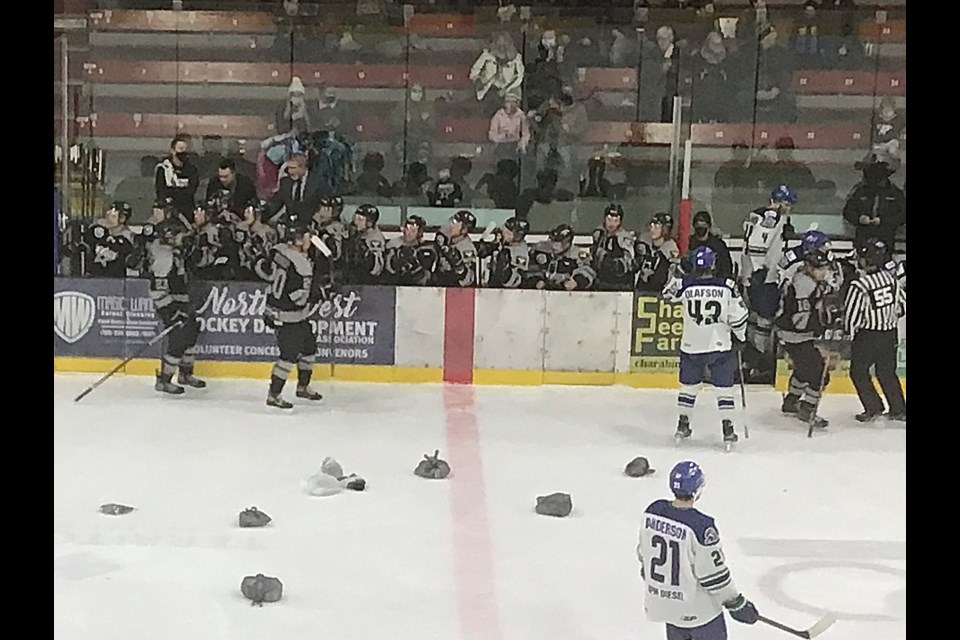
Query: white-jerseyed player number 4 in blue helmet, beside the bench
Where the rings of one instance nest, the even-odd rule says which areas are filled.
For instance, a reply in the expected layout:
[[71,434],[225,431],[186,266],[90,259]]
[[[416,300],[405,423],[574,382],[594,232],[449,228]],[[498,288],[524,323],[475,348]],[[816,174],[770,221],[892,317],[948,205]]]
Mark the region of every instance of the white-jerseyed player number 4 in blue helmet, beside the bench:
[[751,211],[743,223],[740,277],[750,310],[747,338],[753,347],[744,358],[752,365],[750,377],[762,382],[774,375],[776,365],[773,318],[778,304],[777,265],[783,257],[790,209],[796,202],[797,195],[790,187],[780,185],[770,193],[770,203]]

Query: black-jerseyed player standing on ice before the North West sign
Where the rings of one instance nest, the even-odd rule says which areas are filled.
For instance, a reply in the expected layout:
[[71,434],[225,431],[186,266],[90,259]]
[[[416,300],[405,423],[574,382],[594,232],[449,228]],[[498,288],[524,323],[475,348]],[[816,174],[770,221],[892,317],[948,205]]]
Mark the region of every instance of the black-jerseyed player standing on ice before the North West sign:
[[317,297],[319,290],[312,286],[315,260],[325,258],[316,251],[310,238],[306,224],[299,220],[290,221],[284,242],[271,250],[266,264],[259,266],[260,271],[271,275],[264,321],[277,335],[280,358],[273,365],[267,405],[278,409],[293,407],[280,393],[294,366],[297,368],[297,397],[323,399],[310,388],[317,352],[317,334],[310,324],[310,316],[320,301]]

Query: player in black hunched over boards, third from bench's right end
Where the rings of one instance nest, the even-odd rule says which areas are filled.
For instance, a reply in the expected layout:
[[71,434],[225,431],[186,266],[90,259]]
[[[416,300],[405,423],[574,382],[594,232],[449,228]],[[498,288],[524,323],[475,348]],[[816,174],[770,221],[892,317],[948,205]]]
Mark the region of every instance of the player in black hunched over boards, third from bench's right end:
[[530,281],[537,289],[586,291],[597,274],[590,266],[590,250],[573,244],[573,229],[561,224],[537,243],[530,254]]

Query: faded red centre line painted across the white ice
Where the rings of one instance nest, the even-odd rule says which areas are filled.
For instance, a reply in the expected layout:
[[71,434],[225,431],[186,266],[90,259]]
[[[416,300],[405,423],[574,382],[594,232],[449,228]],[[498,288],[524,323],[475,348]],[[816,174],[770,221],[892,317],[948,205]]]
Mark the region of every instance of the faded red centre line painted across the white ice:
[[446,386],[450,463],[450,512],[453,521],[454,579],[463,640],[499,640],[493,543],[480,457],[480,431],[472,386]]

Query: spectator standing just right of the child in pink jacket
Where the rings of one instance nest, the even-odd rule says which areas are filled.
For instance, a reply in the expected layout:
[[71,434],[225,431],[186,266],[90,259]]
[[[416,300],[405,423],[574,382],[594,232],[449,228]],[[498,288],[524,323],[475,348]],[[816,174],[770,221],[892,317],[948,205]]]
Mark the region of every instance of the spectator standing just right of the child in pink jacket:
[[582,103],[563,93],[547,98],[533,116],[537,169],[552,168],[564,180],[574,171],[574,147],[587,129],[587,113]]

